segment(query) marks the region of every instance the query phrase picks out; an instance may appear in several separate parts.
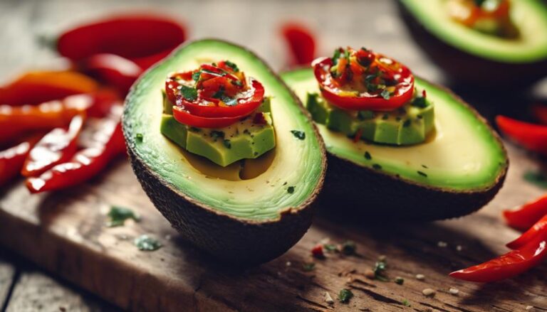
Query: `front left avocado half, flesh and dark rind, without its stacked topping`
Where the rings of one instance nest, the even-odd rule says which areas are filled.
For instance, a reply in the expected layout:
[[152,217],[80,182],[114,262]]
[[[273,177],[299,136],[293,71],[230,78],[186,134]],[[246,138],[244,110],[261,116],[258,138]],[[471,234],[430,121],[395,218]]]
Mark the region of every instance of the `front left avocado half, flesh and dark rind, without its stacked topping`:
[[[275,154],[255,178],[212,178],[160,133],[165,77],[218,60],[236,63],[271,96]],[[303,131],[306,138],[297,139],[292,130]],[[245,48],[210,39],[174,50],[132,86],[123,132],[133,171],[155,207],[186,240],[219,259],[237,265],[267,262],[298,242],[311,225],[311,204],[325,175],[323,141],[293,92]]]

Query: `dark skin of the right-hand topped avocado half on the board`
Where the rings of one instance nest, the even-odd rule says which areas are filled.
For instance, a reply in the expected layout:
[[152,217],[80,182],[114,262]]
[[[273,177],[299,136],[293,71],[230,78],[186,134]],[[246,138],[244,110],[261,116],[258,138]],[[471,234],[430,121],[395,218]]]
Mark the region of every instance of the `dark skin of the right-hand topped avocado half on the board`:
[[[444,87],[475,116],[486,123],[496,138],[501,139],[489,123],[452,91]],[[505,149],[504,149],[505,151]],[[433,221],[462,217],[484,207],[504,184],[509,160],[494,185],[484,190],[451,191],[420,185],[381,170],[359,166],[351,161],[327,153],[328,168],[323,192],[318,201],[322,206],[335,207],[337,213],[360,217],[365,222],[378,220]]]

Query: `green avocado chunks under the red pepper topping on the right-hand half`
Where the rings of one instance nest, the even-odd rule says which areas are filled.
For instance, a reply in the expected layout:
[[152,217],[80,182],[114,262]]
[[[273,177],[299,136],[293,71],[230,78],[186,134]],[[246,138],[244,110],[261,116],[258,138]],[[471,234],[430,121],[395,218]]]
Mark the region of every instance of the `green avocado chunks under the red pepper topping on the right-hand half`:
[[410,145],[425,141],[434,129],[434,107],[405,104],[394,112],[345,111],[337,109],[318,93],[308,93],[306,109],[318,124],[346,136],[381,144]]

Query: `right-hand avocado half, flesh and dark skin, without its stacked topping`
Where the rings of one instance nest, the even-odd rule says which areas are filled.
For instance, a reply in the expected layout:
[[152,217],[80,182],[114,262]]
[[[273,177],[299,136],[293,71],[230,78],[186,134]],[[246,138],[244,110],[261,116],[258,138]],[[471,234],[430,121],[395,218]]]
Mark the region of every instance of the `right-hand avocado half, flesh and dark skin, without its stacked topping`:
[[[310,68],[281,77],[303,101],[319,93]],[[434,104],[435,133],[422,144],[354,143],[317,125],[328,151],[320,200],[382,220],[441,220],[472,213],[494,198],[509,166],[499,136],[449,90],[418,77],[415,84]]]

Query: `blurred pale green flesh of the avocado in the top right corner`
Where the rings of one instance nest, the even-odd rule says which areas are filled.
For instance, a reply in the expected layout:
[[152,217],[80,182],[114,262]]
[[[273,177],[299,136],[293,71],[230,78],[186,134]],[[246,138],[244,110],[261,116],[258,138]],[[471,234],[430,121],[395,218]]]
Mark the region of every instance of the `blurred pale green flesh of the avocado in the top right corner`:
[[540,0],[511,1],[511,21],[519,33],[516,38],[481,33],[454,21],[446,0],[400,1],[429,33],[467,53],[503,63],[547,59],[547,8]]

